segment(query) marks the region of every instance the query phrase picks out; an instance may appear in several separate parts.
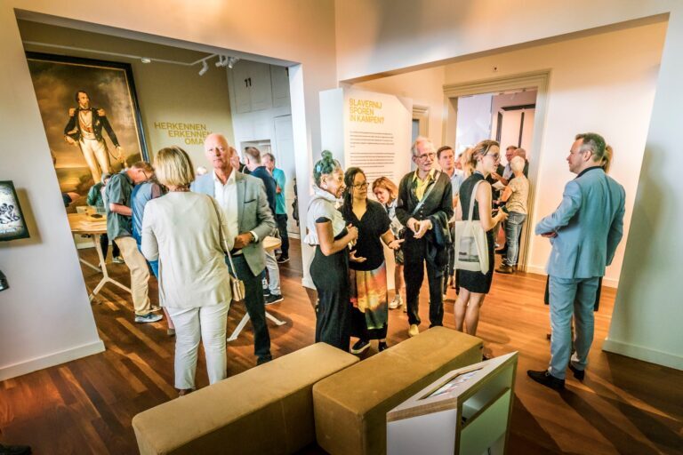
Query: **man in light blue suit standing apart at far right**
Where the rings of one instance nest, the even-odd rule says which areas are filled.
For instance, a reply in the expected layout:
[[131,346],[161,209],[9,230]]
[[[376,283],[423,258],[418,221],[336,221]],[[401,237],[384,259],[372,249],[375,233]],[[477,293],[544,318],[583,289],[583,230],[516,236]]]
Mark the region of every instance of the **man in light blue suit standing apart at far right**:
[[[623,235],[624,190],[604,171],[612,149],[599,134],[578,134],[569,156],[569,171],[558,209],[536,225],[536,235],[550,238],[550,367],[526,371],[531,379],[553,389],[565,387],[567,366],[582,380],[593,341],[593,305],[599,277],[615,257]],[[571,355],[572,314],[575,355]]]

